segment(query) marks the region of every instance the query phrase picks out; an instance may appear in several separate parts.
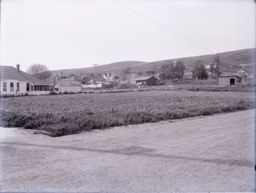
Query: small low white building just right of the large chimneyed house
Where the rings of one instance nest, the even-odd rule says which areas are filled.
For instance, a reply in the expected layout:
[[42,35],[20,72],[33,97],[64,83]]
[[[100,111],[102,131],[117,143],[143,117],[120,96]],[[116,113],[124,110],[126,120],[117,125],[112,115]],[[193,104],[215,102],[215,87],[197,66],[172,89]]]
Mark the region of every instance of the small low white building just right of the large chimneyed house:
[[55,92],[81,92],[82,85],[78,81],[57,81]]

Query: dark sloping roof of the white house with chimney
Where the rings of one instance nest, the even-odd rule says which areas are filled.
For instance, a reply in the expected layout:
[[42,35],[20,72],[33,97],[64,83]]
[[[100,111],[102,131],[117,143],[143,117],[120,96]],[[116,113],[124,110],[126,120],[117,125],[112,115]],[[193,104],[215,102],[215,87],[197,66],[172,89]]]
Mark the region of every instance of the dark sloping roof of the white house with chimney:
[[45,81],[41,81],[38,78],[33,77],[24,71],[19,70],[12,66],[0,66],[0,77],[1,80],[20,80],[20,81],[31,81],[34,85],[50,85]]

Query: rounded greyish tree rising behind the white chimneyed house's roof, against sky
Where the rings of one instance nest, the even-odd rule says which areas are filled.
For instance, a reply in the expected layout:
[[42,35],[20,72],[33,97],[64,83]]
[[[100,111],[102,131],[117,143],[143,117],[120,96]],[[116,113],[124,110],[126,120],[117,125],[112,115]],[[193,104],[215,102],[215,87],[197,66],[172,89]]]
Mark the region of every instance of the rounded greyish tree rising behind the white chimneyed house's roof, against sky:
[[49,71],[49,68],[46,65],[42,64],[32,64],[28,67],[26,70],[26,73],[42,80],[47,79],[51,76],[51,72]]

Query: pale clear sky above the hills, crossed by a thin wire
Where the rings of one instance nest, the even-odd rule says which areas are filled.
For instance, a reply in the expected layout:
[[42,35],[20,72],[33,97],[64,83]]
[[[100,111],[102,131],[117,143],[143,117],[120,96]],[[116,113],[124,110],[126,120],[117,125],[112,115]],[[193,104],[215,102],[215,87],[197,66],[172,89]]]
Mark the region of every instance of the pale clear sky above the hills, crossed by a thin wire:
[[2,0],[1,65],[50,70],[255,47],[247,0]]

